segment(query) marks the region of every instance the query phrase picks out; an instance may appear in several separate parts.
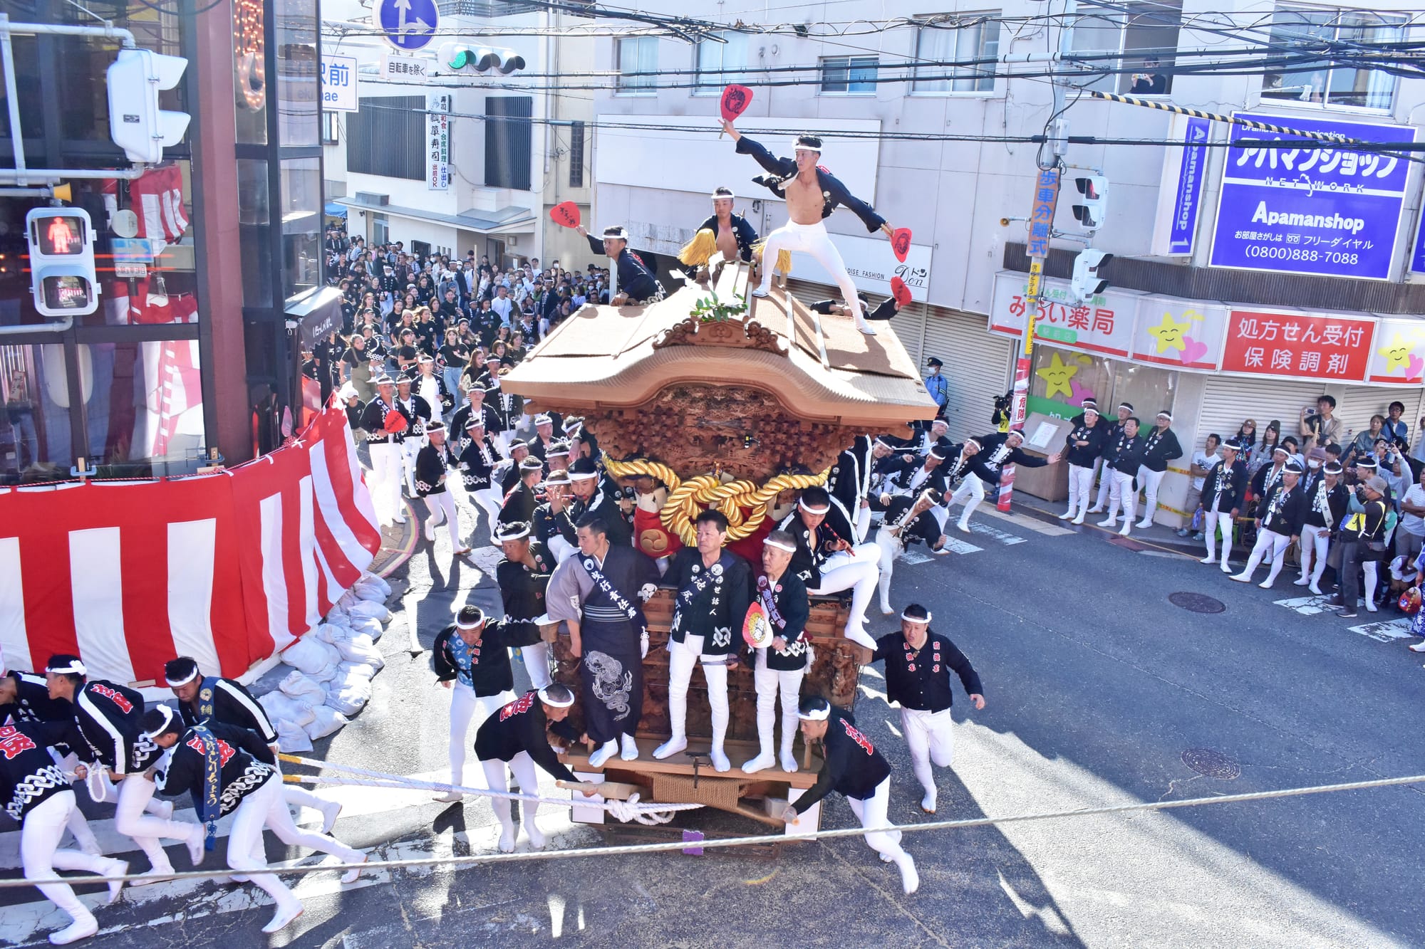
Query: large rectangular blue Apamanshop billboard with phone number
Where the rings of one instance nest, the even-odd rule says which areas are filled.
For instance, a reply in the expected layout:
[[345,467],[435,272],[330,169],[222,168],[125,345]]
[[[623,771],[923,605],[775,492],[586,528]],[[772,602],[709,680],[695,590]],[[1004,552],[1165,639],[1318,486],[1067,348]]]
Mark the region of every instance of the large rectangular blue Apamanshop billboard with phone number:
[[[1405,125],[1237,113],[1273,125],[1371,142],[1414,142]],[[1231,127],[1208,264],[1280,274],[1391,279],[1409,162],[1382,151],[1332,147]]]

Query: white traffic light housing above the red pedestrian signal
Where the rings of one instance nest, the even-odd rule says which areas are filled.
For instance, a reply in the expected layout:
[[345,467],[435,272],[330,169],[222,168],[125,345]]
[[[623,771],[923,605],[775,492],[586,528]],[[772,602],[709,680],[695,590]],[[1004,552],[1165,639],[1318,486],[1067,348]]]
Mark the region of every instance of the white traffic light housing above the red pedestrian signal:
[[108,134],[130,161],[155,165],[164,147],[188,131],[188,113],[158,108],[158,93],[172,88],[188,68],[181,56],[120,50],[108,67]]

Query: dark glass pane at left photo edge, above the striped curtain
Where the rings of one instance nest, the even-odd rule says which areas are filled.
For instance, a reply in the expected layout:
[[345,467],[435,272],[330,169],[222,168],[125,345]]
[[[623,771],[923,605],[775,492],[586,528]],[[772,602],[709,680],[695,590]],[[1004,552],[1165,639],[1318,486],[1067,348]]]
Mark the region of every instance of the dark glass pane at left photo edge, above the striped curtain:
[[0,483],[70,476],[70,395],[64,346],[0,346]]

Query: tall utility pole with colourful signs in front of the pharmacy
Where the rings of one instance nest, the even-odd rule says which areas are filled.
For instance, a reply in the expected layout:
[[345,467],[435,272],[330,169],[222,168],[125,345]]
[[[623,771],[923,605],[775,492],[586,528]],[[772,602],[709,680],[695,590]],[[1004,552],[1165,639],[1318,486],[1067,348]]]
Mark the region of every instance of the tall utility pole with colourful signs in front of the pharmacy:
[[[1064,0],[1063,26],[1059,27],[1059,58],[1063,60],[1073,46],[1073,16],[1077,11],[1077,0]],[[1039,158],[1039,174],[1035,180],[1035,198],[1030,202],[1027,239],[1025,248],[1029,252],[1029,286],[1025,294],[1025,345],[1019,351],[1019,362],[1015,366],[1015,402],[1010,409],[1009,427],[1025,427],[1029,408],[1029,368],[1035,353],[1035,322],[1039,319],[1039,306],[1043,302],[1040,281],[1045,272],[1045,258],[1049,256],[1049,238],[1054,231],[1054,208],[1059,207],[1059,184],[1063,178],[1063,155],[1069,147],[1069,120],[1063,115],[1064,100],[1067,97],[1064,81],[1053,78],[1053,121],[1049,128],[1049,158]],[[1009,466],[1002,476],[999,500],[996,507],[1007,512],[1010,497],[1015,492],[1013,466]]]

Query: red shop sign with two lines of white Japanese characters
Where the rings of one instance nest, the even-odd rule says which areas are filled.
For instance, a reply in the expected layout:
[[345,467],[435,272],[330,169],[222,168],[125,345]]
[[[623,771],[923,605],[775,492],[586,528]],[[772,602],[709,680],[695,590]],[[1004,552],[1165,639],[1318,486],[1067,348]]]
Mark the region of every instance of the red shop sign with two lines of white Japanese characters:
[[1223,372],[1364,382],[1375,321],[1291,311],[1233,309]]

